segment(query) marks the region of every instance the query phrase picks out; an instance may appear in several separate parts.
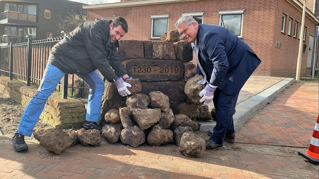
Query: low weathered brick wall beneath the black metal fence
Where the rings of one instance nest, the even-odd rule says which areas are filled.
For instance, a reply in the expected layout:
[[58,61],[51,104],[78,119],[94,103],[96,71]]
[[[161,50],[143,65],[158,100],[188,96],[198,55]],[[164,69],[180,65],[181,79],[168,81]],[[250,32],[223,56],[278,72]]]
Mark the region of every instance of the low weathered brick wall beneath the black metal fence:
[[[16,100],[24,107],[37,91],[37,86],[26,86],[25,82],[10,80],[0,76],[0,93]],[[50,125],[62,124],[65,129],[79,129],[85,121],[86,109],[83,102],[74,99],[62,99],[61,95],[53,93],[41,113],[40,119]]]

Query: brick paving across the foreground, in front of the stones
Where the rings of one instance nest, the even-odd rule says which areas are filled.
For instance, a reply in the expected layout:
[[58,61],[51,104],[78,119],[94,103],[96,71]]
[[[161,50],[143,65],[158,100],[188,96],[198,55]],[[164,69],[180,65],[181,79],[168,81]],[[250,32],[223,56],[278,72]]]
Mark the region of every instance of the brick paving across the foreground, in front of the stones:
[[56,155],[38,144],[29,146],[16,153],[11,145],[0,145],[0,178],[318,178],[297,154],[222,150],[195,159],[174,145],[105,144],[76,145]]

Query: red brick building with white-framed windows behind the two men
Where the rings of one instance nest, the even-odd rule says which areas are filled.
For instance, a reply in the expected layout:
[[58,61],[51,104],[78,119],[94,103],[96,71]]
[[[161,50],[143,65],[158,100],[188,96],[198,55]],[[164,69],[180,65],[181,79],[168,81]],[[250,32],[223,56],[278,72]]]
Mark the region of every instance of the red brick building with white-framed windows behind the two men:
[[125,18],[129,32],[123,39],[159,40],[163,32],[175,29],[182,15],[204,24],[223,22],[261,58],[255,75],[295,77],[300,38],[304,47],[300,76],[311,75],[319,23],[315,4],[318,1],[307,1],[304,34],[300,34],[303,4],[298,0],[121,0],[83,8],[89,21]]

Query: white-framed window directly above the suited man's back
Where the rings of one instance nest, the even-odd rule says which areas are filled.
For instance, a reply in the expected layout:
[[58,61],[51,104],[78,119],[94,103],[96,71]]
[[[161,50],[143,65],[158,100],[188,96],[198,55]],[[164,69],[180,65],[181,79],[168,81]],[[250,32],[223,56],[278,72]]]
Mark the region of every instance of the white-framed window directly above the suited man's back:
[[219,25],[226,27],[230,32],[241,37],[244,10],[219,11]]

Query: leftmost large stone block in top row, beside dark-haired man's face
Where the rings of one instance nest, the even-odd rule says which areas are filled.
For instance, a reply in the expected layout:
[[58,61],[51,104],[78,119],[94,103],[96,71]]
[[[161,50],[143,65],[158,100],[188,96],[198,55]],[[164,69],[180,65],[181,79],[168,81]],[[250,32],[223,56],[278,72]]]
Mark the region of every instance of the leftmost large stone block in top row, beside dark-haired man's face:
[[121,61],[133,58],[144,58],[144,41],[120,40],[117,52]]

